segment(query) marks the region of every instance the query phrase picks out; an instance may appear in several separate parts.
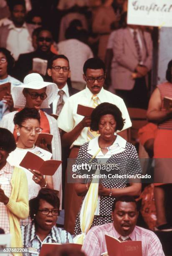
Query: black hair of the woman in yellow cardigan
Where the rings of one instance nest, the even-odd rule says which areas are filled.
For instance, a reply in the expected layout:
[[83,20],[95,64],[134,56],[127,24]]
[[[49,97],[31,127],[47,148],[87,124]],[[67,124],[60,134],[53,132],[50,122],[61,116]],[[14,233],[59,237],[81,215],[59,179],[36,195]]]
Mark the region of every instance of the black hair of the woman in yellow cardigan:
[[16,148],[13,134],[5,128],[0,128],[0,147],[4,148],[8,153],[14,151]]

